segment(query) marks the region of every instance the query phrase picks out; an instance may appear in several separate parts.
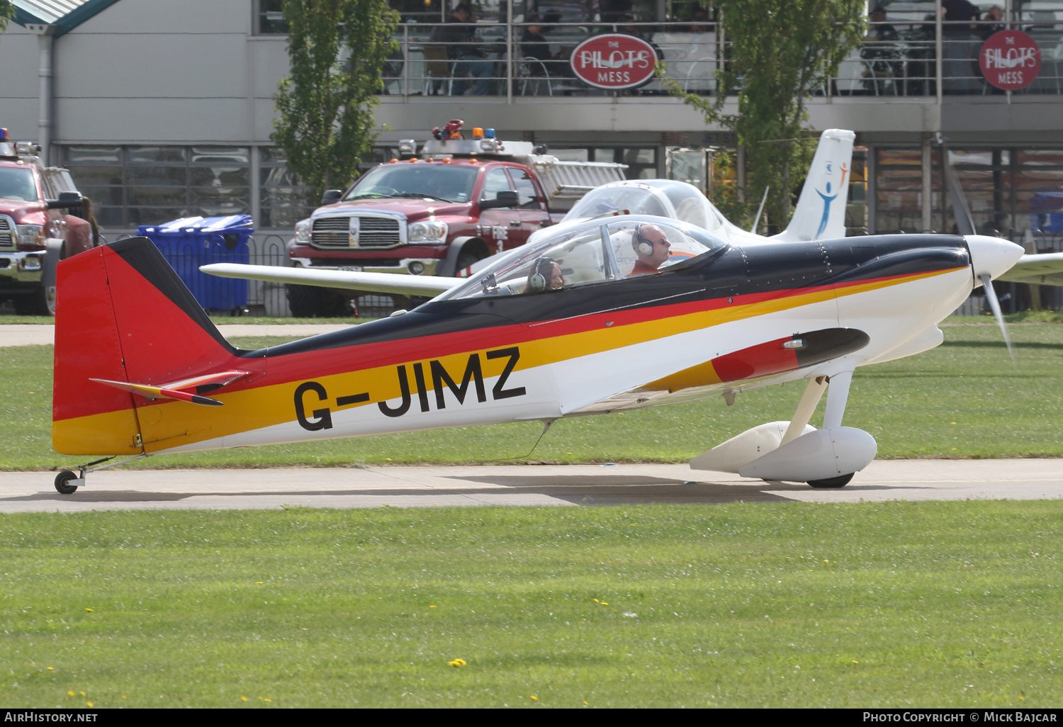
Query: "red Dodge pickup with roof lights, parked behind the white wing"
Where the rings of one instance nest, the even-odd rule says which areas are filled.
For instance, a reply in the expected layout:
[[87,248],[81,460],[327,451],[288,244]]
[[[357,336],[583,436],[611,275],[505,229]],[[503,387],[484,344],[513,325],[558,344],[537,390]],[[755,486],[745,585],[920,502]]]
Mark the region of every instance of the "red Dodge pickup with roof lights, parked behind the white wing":
[[[454,122],[452,122],[453,124]],[[522,246],[564,210],[549,202],[578,199],[624,179],[624,165],[559,162],[532,143],[473,138],[424,145],[422,158],[391,159],[345,191],[330,189],[324,206],[296,225],[293,266],[410,275],[461,274],[475,261]],[[414,153],[412,140],[402,142]],[[537,153],[538,152],[538,153]],[[352,290],[288,286],[294,316],[342,316]]]

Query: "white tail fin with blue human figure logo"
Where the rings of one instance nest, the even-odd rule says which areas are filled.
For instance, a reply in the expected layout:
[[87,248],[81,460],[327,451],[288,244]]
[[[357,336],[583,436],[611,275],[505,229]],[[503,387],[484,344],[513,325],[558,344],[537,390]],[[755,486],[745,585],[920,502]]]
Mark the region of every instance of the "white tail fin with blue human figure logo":
[[856,134],[842,129],[823,132],[790,224],[772,239],[790,242],[845,237],[855,138]]

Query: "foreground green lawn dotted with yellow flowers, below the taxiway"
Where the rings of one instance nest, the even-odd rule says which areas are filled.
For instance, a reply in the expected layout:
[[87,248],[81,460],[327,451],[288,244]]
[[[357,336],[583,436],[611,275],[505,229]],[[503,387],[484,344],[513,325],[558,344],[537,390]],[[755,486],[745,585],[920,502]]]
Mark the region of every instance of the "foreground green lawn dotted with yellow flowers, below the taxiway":
[[0,515],[0,704],[1057,708],[1061,518],[1061,502]]

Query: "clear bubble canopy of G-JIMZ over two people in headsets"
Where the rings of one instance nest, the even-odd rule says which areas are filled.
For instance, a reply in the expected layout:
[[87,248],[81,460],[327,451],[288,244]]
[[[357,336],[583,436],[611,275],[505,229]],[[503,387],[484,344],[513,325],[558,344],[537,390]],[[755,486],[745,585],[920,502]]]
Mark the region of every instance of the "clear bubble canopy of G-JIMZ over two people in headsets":
[[726,244],[702,227],[664,217],[591,220],[512,250],[436,300],[541,294],[659,275]]

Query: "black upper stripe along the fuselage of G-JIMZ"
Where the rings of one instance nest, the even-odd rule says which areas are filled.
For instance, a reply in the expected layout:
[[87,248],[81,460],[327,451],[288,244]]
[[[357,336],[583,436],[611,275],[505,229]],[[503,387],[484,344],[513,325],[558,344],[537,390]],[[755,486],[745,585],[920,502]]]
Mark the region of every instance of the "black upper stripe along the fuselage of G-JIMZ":
[[812,242],[729,246],[641,275],[552,292],[429,301],[403,316],[306,338],[243,356],[282,356],[421,336],[560,320],[795,288],[851,284],[968,264],[962,237],[877,235]]

